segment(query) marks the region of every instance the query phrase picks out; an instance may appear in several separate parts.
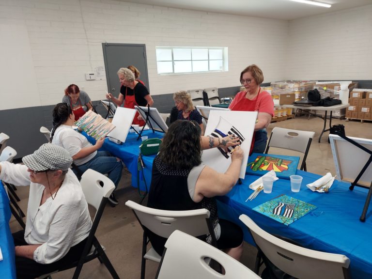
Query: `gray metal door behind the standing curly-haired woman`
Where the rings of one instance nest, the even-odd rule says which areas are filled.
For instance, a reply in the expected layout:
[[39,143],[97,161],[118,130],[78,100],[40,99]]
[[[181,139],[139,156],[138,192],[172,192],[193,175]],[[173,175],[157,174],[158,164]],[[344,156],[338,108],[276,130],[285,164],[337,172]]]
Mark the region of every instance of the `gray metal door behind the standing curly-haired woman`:
[[145,83],[150,91],[145,45],[103,43],[102,48],[109,93],[116,97],[119,96],[120,82],[116,73],[120,68],[126,68],[129,65],[135,66],[140,71],[140,80]]

